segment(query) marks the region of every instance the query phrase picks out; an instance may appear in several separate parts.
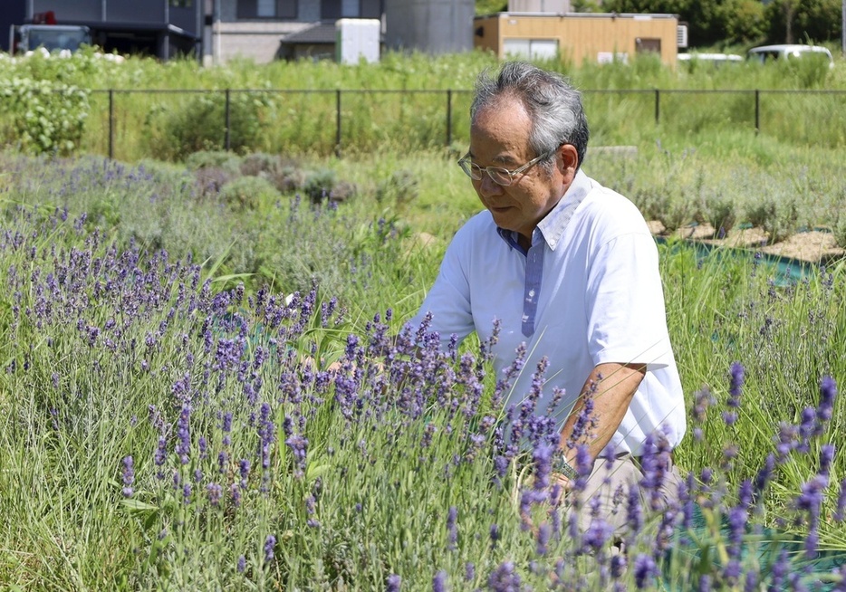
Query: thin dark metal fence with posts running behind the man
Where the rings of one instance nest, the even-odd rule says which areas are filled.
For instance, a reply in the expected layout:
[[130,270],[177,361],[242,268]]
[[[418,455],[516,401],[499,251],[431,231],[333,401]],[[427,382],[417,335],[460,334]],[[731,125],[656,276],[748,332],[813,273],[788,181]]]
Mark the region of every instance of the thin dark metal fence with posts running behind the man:
[[[332,97],[332,119],[334,121],[334,153],[341,157],[344,148],[344,140],[342,130],[344,129],[344,115],[343,105],[345,97],[354,97],[356,95],[399,95],[400,100],[405,100],[408,95],[442,95],[442,109],[443,109],[443,137],[441,141],[445,146],[450,146],[455,136],[454,117],[456,110],[456,99],[461,97],[465,99],[469,97],[472,91],[469,90],[287,90],[287,89],[222,89],[222,90],[144,90],[144,89],[108,89],[108,90],[92,90],[92,94],[106,94],[108,96],[108,155],[109,158],[115,156],[115,129],[118,124],[118,116],[115,112],[115,99],[122,95],[133,94],[161,94],[161,95],[186,95],[186,94],[216,94],[223,95],[224,98],[224,113],[223,120],[218,122],[222,125],[221,145],[226,150],[232,147],[232,122],[231,113],[233,98],[239,93],[261,93],[263,95],[318,95],[324,97]],[[636,97],[641,100],[649,98],[652,102],[652,111],[654,113],[654,123],[659,125],[662,119],[668,117],[667,102],[674,97],[690,97],[692,95],[705,95],[707,97],[713,96],[735,96],[747,97],[748,102],[744,101],[744,110],[749,110],[754,113],[752,123],[754,125],[755,133],[762,131],[762,101],[765,96],[777,97],[779,95],[803,95],[806,97],[839,97],[846,98],[846,91],[834,90],[661,90],[661,89],[631,89],[631,90],[585,90],[582,91],[585,96],[585,103],[589,105],[591,100],[602,96],[618,96],[618,97]],[[710,100],[710,99],[709,99]],[[675,115],[678,115],[676,113]],[[465,122],[462,121],[464,124]],[[431,138],[431,141],[439,141],[437,138]]]

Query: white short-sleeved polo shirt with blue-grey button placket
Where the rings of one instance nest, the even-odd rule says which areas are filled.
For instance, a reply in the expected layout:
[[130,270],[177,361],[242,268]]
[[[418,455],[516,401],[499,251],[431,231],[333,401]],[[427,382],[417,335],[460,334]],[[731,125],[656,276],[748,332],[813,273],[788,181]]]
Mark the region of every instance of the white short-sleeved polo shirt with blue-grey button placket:
[[546,412],[553,387],[565,389],[555,413],[560,427],[595,366],[645,364],[646,376],[611,444],[618,453],[639,455],[647,434],[661,426],[672,446],[685,433],[655,240],[635,205],[582,171],[535,228],[528,253],[488,211],[471,218],[447,248],[411,320],[415,328],[427,311],[445,347],[452,334],[460,340],[473,331],[485,342],[499,320],[497,380],[525,344],[524,368],[506,405],[519,406],[528,395],[545,356],[549,368],[535,413]]

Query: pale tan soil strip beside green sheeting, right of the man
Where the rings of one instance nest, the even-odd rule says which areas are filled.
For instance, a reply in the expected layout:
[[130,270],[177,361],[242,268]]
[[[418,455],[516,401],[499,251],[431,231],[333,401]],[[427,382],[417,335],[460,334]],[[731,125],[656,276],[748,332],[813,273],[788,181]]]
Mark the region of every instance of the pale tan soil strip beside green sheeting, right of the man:
[[[649,222],[649,229],[652,231],[652,234],[669,235],[666,233],[664,225],[659,221]],[[687,226],[685,228],[679,228],[670,234],[681,236],[688,240],[735,248],[747,248],[809,263],[823,263],[846,256],[846,249],[837,246],[832,233],[817,230],[795,233],[786,241],[774,244],[767,244],[767,234],[762,228],[735,228],[722,239],[715,238],[716,231],[710,224]]]

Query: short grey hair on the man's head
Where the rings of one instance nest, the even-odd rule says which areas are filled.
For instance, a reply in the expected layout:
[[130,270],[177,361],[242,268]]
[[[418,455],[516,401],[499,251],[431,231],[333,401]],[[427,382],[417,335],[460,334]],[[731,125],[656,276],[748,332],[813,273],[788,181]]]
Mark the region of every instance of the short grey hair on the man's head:
[[[523,103],[532,130],[529,148],[540,156],[562,144],[572,144],[582,166],[588,149],[588,120],[582,108],[582,93],[556,72],[541,70],[528,62],[505,62],[492,77],[482,72],[476,81],[476,96],[470,106],[470,120],[501,98],[514,97]],[[551,170],[551,159],[543,166]]]

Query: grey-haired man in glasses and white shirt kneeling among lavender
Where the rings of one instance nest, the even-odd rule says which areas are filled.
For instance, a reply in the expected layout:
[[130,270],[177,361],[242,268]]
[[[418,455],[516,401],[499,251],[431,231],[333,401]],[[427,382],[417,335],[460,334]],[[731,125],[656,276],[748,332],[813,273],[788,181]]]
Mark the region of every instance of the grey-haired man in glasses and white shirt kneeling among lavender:
[[[412,322],[430,312],[445,344],[472,331],[486,341],[500,323],[497,375],[521,345],[527,352],[509,404],[519,406],[548,358],[538,412],[563,389],[553,476],[564,487],[576,475],[567,443],[590,396],[589,463],[607,447],[617,461],[610,475],[608,463],[593,463],[583,495],[598,497],[600,513],[620,526],[625,512],[614,510],[613,494],[642,478],[649,434],[672,448],[686,429],[655,241],[635,205],[582,171],[582,98],[559,75],[524,62],[483,73],[470,118],[470,149],[458,164],[485,211],[457,232]],[[678,480],[669,468],[665,501]]]

